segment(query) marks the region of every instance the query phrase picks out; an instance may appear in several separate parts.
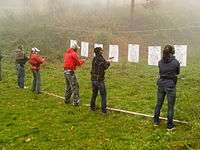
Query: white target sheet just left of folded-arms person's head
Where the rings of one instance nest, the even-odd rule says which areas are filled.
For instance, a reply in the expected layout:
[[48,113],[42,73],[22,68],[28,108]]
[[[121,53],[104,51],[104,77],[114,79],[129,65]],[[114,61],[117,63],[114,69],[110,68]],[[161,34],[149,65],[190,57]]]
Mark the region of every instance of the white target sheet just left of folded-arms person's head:
[[148,47],[148,65],[158,66],[161,59],[161,46]]

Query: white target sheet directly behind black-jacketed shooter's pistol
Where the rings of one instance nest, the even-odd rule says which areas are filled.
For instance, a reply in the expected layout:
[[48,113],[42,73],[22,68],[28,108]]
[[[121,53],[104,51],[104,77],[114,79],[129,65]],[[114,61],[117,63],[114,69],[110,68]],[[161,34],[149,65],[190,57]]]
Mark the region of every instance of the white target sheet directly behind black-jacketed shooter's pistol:
[[119,60],[119,46],[109,45],[109,58],[113,57],[113,62],[118,62]]

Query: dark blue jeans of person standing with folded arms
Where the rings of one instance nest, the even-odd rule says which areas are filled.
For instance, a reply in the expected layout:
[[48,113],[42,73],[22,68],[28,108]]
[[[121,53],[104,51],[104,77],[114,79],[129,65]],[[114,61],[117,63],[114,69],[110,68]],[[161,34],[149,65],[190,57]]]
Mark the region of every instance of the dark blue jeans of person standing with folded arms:
[[155,124],[160,123],[160,120],[159,120],[160,110],[162,108],[162,104],[164,102],[166,95],[167,95],[167,100],[168,100],[167,126],[170,128],[170,127],[174,126],[173,117],[174,117],[174,105],[175,105],[175,101],[176,101],[176,87],[158,86],[157,104],[156,104],[155,113],[154,113],[154,123]]

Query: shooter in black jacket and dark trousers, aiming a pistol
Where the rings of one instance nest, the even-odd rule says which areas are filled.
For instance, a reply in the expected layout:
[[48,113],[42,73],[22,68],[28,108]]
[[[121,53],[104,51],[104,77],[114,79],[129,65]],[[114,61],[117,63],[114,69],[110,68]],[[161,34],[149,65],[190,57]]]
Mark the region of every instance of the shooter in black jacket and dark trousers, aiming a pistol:
[[103,58],[103,49],[97,47],[94,49],[95,57],[92,61],[92,71],[91,71],[91,80],[92,80],[92,98],[90,101],[90,108],[92,111],[95,111],[96,97],[98,91],[101,95],[101,109],[102,113],[106,113],[106,87],[105,87],[105,70],[110,66],[110,60],[105,60]]

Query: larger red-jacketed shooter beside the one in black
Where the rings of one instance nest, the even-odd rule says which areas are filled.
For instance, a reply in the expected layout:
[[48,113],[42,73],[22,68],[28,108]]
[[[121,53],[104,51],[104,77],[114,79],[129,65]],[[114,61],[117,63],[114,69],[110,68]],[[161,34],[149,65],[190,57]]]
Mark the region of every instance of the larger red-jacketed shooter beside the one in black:
[[71,48],[67,49],[64,53],[64,75],[65,75],[65,103],[72,103],[75,106],[79,106],[79,84],[75,75],[77,66],[81,66],[84,63],[83,59],[80,59],[77,50],[80,47],[74,43]]

